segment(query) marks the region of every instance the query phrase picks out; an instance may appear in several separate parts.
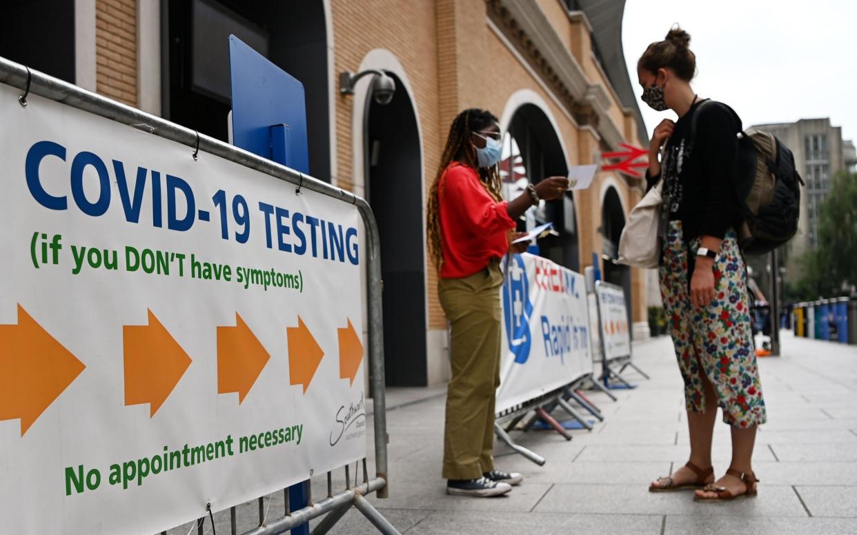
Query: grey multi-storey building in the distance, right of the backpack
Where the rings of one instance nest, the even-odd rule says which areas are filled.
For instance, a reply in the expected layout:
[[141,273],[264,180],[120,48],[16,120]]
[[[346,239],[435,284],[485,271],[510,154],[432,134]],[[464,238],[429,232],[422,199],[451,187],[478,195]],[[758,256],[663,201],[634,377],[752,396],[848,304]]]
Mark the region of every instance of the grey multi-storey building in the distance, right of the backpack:
[[811,251],[818,239],[818,209],[830,191],[833,176],[845,169],[842,128],[831,126],[829,118],[752,128],[765,130],[782,140],[794,152],[795,167],[806,182],[800,196],[798,233],[786,251],[786,281],[796,282],[801,274],[800,257]]

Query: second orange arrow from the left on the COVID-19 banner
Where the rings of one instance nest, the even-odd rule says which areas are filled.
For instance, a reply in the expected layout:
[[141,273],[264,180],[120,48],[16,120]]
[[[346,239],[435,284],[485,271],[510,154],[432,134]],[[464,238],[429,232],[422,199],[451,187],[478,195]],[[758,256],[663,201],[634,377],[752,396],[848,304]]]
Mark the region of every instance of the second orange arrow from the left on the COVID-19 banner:
[[148,325],[124,325],[125,405],[150,403],[152,418],[190,366],[190,357],[152,311]]

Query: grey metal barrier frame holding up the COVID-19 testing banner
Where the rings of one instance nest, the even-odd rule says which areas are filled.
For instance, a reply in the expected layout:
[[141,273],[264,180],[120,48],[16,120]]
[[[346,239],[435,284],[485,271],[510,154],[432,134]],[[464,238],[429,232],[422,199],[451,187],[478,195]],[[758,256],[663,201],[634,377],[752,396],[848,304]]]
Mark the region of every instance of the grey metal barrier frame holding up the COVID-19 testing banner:
[[[47,74],[39,73],[3,57],[0,57],[0,83],[14,86],[23,92],[21,98],[19,98],[21,105],[27,105],[26,97],[28,94],[33,93],[79,110],[87,111],[93,115],[102,116],[128,125],[148,134],[157,135],[166,140],[180,143],[188,146],[189,150],[197,153],[200,151],[208,152],[231,162],[239,163],[249,169],[255,169],[266,175],[290,182],[298,188],[306,188],[357,206],[361,217],[363,217],[363,223],[366,226],[369,236],[369,366],[370,383],[373,392],[373,418],[375,423],[375,477],[369,478],[366,459],[364,458],[363,484],[353,487],[350,485],[349,467],[346,466],[344,467],[346,488],[334,494],[331,484],[332,473],[328,472],[327,497],[315,503],[310,500],[308,507],[297,511],[286,511],[283,517],[260,525],[245,535],[273,535],[275,533],[282,533],[323,514],[328,514],[327,518],[322,520],[314,531],[314,533],[324,533],[345,514],[352,504],[379,531],[398,534],[399,532],[363,498],[363,496],[370,492],[377,492],[381,498],[387,497],[387,414],[384,390],[383,317],[381,313],[381,244],[377,223],[375,222],[375,217],[372,209],[369,207],[369,203],[365,199],[357,197],[354,193],[334,187],[331,184],[319,181],[309,175],[304,175],[294,169],[289,169],[265,158],[260,158],[253,153],[215,140],[205,134],[199,134],[195,130],[166,121],[129,105],[118,103],[94,92],[89,92],[79,86],[58,80]],[[287,504],[288,499],[286,498]],[[210,510],[208,513],[209,517],[213,518]],[[260,524],[264,519],[262,513],[263,511],[260,509]],[[231,532],[235,534],[235,508],[231,510],[231,520]],[[201,522],[198,522],[198,525],[200,525],[199,532],[201,533]]]

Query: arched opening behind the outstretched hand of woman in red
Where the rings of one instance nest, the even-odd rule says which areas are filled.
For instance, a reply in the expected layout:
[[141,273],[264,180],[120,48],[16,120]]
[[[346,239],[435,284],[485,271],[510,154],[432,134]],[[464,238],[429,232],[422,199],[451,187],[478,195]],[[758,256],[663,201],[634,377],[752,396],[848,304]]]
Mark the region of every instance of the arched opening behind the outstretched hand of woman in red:
[[[566,154],[548,116],[536,104],[519,106],[512,115],[503,140],[500,175],[506,199],[523,193],[528,182],[536,184],[547,176],[567,174]],[[518,229],[531,229],[548,222],[554,223],[558,235],[539,240],[538,253],[559,265],[578,271],[578,235],[571,192],[562,199],[531,208],[524,220],[518,223]]]

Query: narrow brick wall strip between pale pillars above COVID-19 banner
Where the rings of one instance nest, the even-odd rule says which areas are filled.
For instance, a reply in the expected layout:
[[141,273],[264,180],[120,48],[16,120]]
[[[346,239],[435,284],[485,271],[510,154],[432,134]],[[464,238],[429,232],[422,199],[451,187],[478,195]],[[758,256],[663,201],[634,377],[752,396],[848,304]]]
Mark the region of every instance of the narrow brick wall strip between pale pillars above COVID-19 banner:
[[95,0],[96,91],[137,104],[136,0]]

